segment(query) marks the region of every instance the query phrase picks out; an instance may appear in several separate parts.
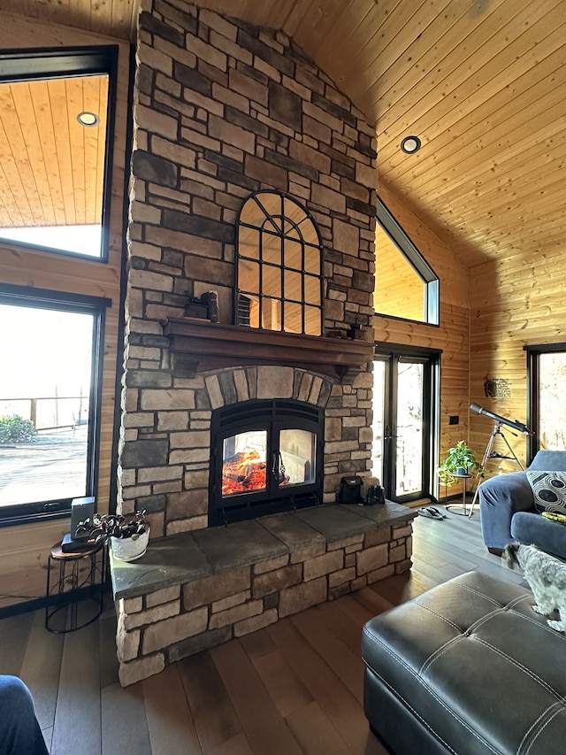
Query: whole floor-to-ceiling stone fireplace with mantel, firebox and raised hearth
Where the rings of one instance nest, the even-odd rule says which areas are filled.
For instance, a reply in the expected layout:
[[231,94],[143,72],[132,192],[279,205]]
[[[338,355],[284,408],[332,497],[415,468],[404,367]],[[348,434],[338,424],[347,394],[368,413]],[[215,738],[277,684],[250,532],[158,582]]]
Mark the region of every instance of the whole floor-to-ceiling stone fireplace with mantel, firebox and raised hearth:
[[[118,505],[151,540],[111,554],[123,685],[402,574],[415,516],[336,505],[371,466],[373,129],[280,32],[142,0],[138,40]],[[239,215],[267,191],[322,248],[320,300],[291,320],[237,296]],[[185,316],[210,291],[215,321]],[[249,327],[264,316],[279,329]]]

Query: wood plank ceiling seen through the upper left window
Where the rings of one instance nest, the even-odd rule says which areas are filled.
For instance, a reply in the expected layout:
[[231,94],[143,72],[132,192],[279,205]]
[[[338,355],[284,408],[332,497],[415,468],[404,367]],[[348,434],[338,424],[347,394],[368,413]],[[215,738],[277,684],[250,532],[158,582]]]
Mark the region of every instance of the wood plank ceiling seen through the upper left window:
[[101,222],[107,93],[107,75],[0,84],[0,228]]

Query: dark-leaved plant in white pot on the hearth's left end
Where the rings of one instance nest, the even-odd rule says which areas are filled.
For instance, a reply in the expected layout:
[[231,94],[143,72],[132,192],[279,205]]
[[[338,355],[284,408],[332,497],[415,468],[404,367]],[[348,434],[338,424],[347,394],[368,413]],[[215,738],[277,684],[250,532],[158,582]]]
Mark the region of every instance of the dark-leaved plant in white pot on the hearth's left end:
[[114,558],[134,561],[145,553],[149,542],[149,523],[146,512],[123,514],[95,514],[92,521],[80,522],[75,537],[88,537],[96,542],[110,541]]

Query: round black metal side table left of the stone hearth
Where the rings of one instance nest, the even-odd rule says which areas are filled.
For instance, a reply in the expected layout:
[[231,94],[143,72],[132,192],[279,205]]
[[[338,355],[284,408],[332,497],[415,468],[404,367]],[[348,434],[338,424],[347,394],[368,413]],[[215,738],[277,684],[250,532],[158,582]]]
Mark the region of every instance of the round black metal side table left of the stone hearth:
[[103,610],[105,576],[103,541],[72,553],[54,545],[47,563],[45,628],[64,635],[96,620]]

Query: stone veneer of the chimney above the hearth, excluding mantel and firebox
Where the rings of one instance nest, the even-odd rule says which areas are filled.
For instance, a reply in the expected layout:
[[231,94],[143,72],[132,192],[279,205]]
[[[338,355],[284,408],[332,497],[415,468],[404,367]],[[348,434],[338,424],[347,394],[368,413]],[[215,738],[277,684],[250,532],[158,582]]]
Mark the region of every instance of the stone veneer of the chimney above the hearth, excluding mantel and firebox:
[[[142,0],[137,63],[119,507],[146,508],[159,536],[206,526],[211,409],[246,391],[299,395],[307,380],[279,369],[265,388],[263,368],[181,378],[160,321],[209,289],[233,321],[238,212],[251,192],[278,189],[323,238],[325,332],[358,320],[372,341],[376,151],[361,113],[280,32]],[[370,467],[371,372],[309,380],[328,396],[332,501],[341,474]]]

